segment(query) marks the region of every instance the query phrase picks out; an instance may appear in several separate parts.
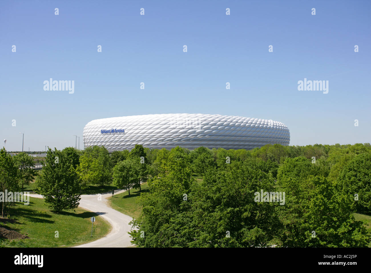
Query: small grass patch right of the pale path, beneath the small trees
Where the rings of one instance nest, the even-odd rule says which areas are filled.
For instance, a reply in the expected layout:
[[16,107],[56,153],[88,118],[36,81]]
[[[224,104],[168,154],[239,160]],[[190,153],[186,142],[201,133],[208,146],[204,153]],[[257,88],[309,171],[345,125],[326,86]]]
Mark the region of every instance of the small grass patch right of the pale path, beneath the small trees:
[[[141,192],[148,192],[147,182],[143,183],[141,188]],[[141,192],[139,192],[139,189],[130,189],[130,196],[128,191],[115,195],[114,197],[108,198],[109,204],[111,208],[116,209],[116,211],[137,219],[142,212],[142,206],[137,202]]]

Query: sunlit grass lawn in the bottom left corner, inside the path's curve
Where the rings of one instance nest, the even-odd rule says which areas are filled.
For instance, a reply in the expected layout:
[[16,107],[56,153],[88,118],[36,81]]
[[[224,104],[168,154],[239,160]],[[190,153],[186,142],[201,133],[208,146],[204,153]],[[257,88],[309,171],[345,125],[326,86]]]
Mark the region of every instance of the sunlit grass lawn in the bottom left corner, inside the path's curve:
[[[44,199],[30,197],[29,205],[20,203],[9,210],[14,222],[0,222],[30,238],[12,241],[0,238],[0,247],[69,247],[98,240],[111,230],[111,225],[94,212],[81,208],[75,211],[54,213],[45,206]],[[96,220],[91,237],[93,216]],[[59,238],[55,238],[55,231],[59,232]]]

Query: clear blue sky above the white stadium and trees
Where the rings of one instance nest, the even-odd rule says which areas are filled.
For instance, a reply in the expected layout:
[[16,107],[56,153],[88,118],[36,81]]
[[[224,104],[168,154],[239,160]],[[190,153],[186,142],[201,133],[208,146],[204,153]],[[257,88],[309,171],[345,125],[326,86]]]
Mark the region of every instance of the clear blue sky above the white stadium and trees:
[[[24,150],[63,149],[96,118],[202,113],[281,121],[290,145],[370,142],[370,7],[371,1],[1,1],[1,141],[21,150],[24,132]],[[49,78],[75,81],[74,94],[44,91]],[[304,78],[328,80],[328,94],[298,91]]]

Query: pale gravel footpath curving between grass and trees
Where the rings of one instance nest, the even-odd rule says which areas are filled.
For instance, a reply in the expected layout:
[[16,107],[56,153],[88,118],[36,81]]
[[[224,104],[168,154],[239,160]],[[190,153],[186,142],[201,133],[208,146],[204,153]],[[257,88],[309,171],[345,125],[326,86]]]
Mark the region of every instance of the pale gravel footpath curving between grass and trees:
[[[121,194],[126,190],[115,191],[115,194]],[[43,198],[39,194],[30,194],[31,197]],[[112,192],[102,194],[101,200],[98,200],[97,194],[81,195],[79,207],[95,212],[105,218],[112,226],[112,230],[106,237],[92,241],[90,243],[81,244],[76,247],[132,247],[131,238],[128,234],[130,231],[129,222],[132,217],[122,214],[119,211],[109,207],[106,198],[112,196]]]

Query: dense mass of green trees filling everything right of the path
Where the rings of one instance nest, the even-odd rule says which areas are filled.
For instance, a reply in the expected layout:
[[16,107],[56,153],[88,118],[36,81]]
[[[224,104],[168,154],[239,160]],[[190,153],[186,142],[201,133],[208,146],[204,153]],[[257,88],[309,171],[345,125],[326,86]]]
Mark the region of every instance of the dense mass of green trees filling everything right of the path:
[[[146,155],[152,175],[149,193],[140,197],[142,214],[132,221],[137,246],[366,247],[371,241],[353,216],[371,212],[369,143],[176,147]],[[260,192],[285,197],[256,202]]]

